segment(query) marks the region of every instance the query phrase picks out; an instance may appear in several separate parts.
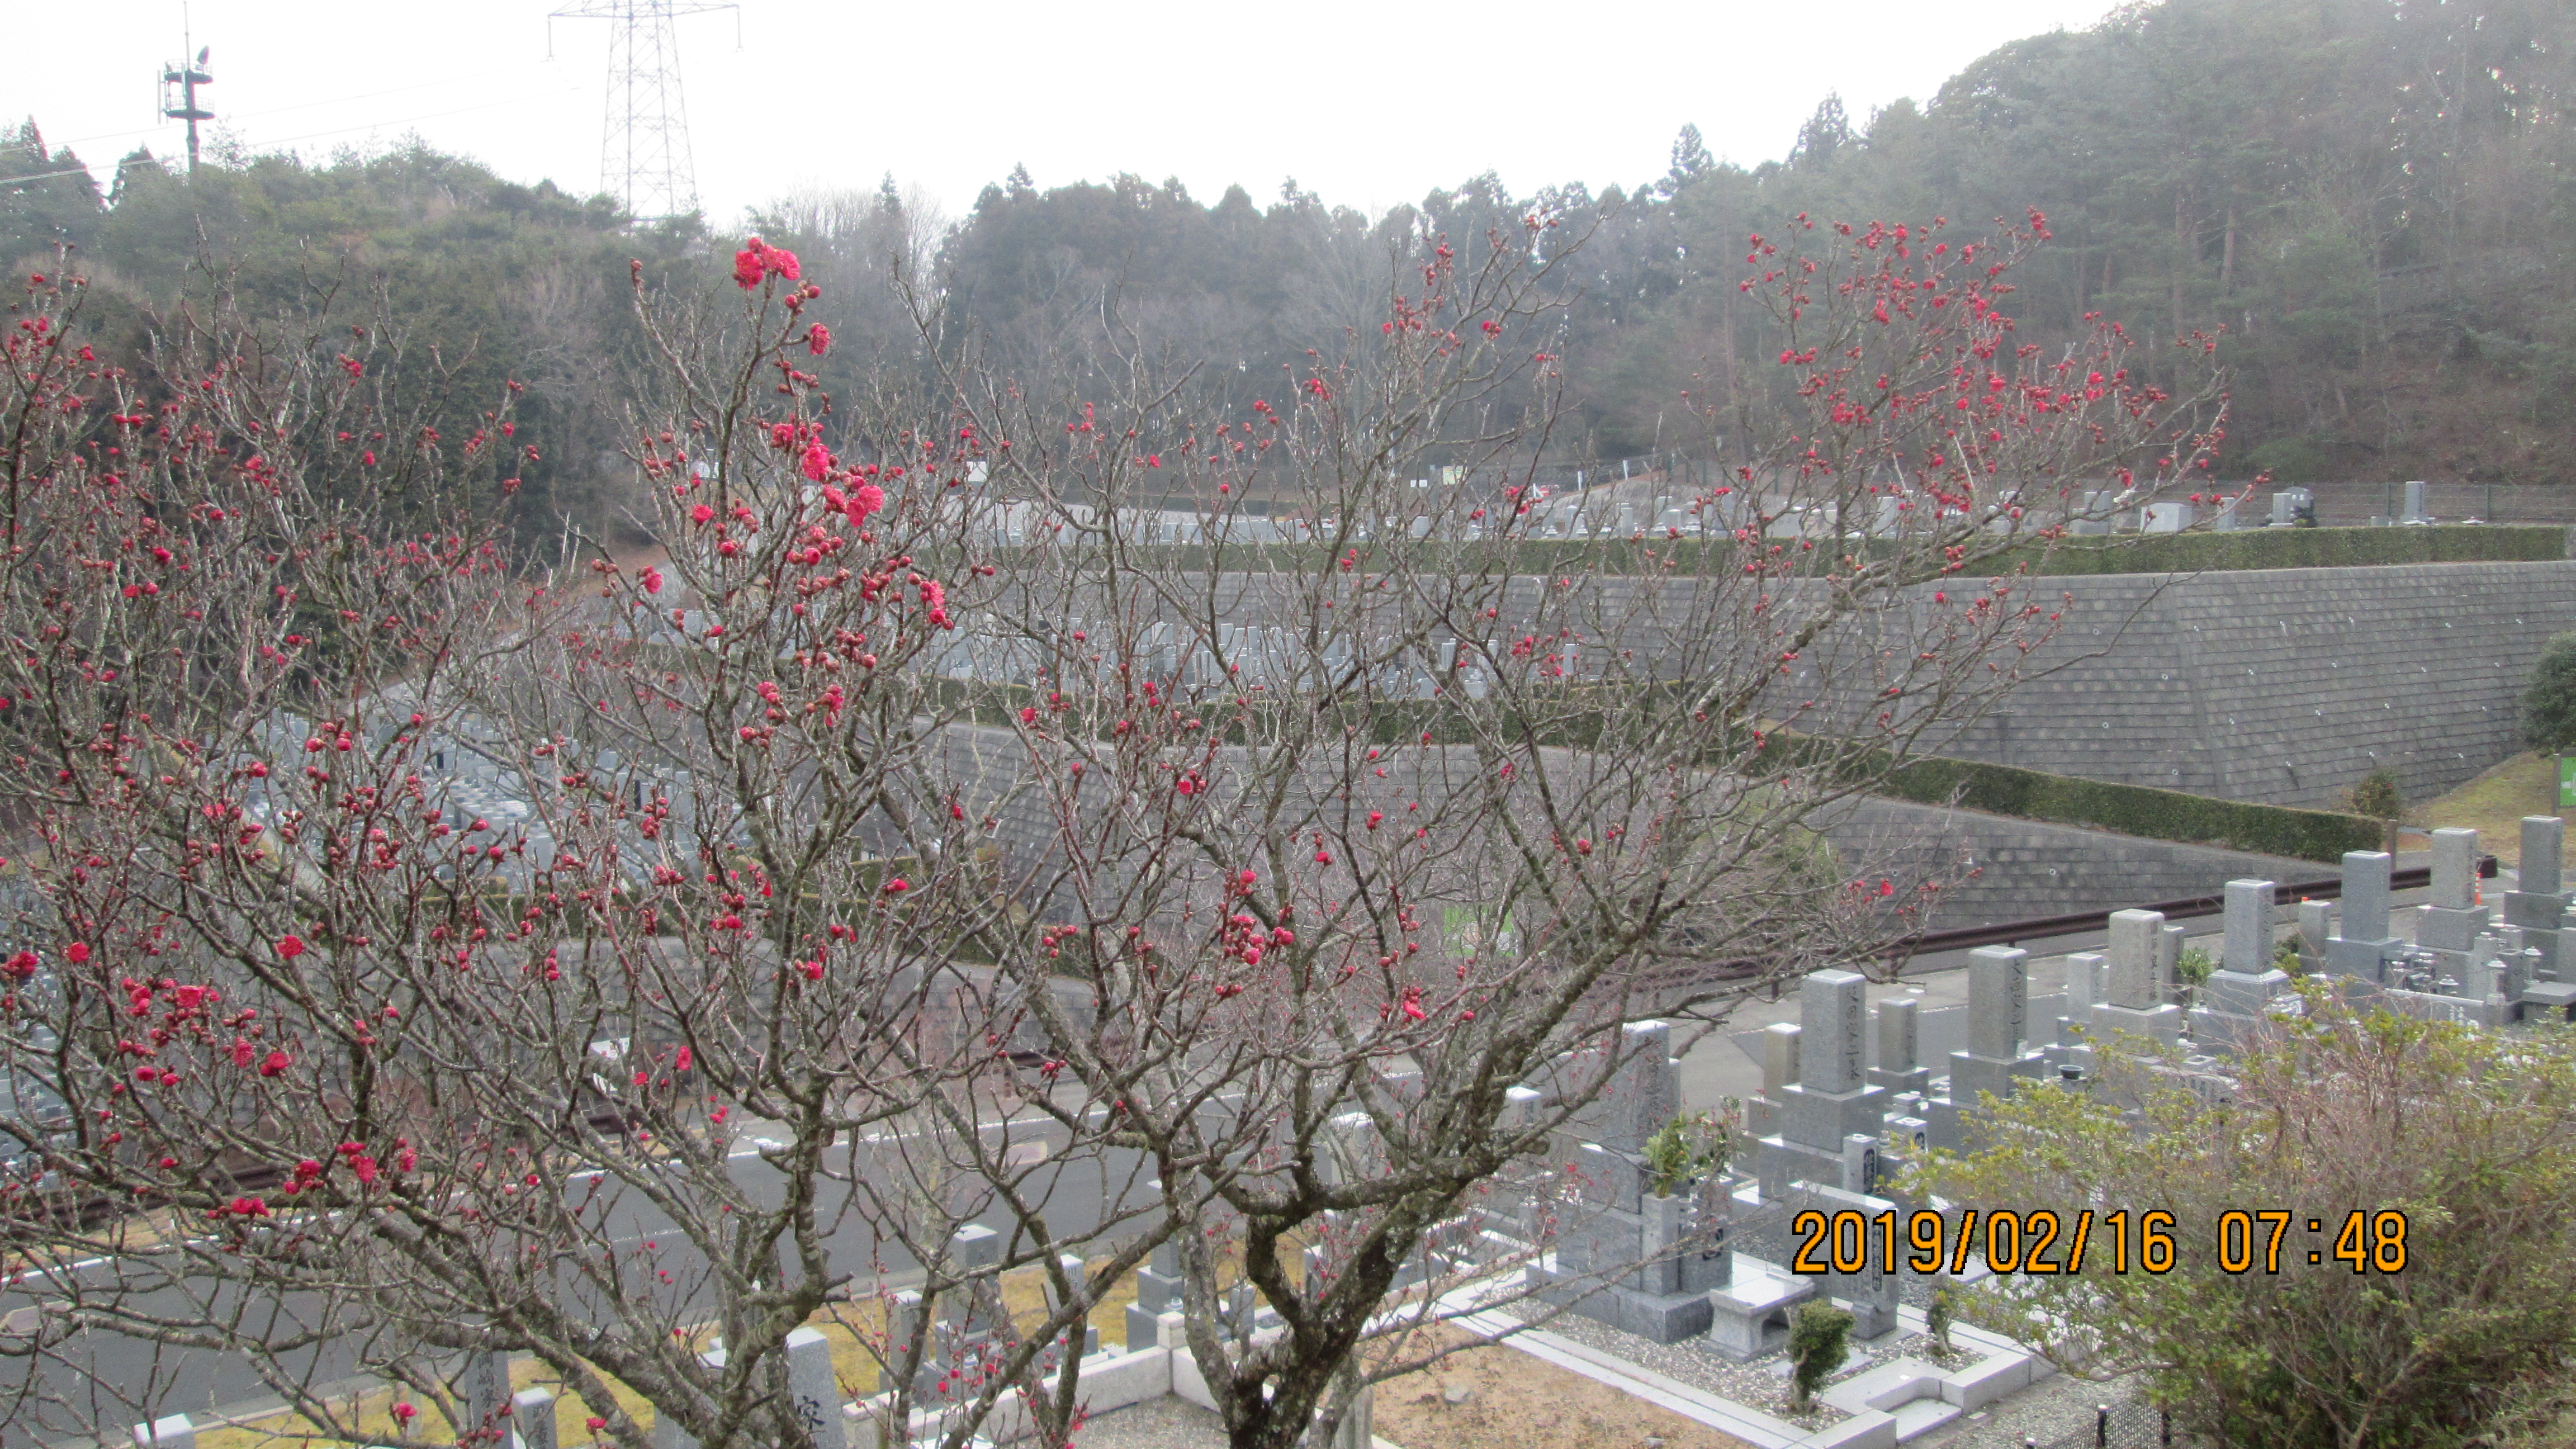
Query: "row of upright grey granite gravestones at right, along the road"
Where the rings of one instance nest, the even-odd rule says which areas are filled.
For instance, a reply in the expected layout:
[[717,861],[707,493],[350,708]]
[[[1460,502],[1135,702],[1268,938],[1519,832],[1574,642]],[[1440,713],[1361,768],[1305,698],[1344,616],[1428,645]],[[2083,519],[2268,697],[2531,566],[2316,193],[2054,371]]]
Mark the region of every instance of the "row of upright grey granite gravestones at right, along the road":
[[[2571,908],[2561,820],[2522,822],[2519,890],[2506,892],[2504,920],[2478,890],[2476,830],[2434,830],[2432,856],[2432,900],[2406,941],[2391,926],[2393,859],[2347,853],[2342,931],[2326,902],[2298,910],[2311,969],[2347,998],[2416,1016],[2478,1026],[2576,1016],[2576,980],[2558,980]],[[1558,1152],[1584,1178],[1610,1186],[1587,1194],[1584,1217],[1564,1227],[1540,1279],[1553,1279],[1574,1312],[1659,1343],[1708,1336],[1739,1359],[1775,1346],[1788,1310],[1816,1294],[1844,1302],[1860,1338],[1893,1330],[1893,1276],[1795,1279],[1728,1250],[1728,1232],[1808,1204],[1865,1217],[1896,1209],[1880,1196],[1888,1140],[1963,1150],[1986,1093],[2009,1096],[2020,1080],[2089,1078],[2117,1034],[2184,1047],[2190,1085],[2231,1091],[2228,1057],[2290,995],[2290,972],[2275,964],[2275,895],[2264,879],[2226,884],[2221,959],[2190,1008],[2177,980],[2184,928],[2154,910],[2112,913],[2105,949],[2069,957],[2066,1013],[2045,1031],[2030,1021],[2027,951],[1971,951],[1968,1049],[1950,1052],[1945,1075],[1919,1060],[1914,1000],[1878,1006],[1878,1062],[1868,1065],[1868,977],[1811,972],[1801,982],[1801,1018],[1762,1034],[1762,1093],[1749,1104],[1752,1178],[1713,1173],[1687,1201],[1638,1186],[1643,1137],[1672,1114],[1674,1062],[1656,1036],[1662,1024],[1631,1029],[1631,1060],[1610,1093],[1613,1111],[1597,1122],[1602,1129],[1589,1137],[1577,1129]]]

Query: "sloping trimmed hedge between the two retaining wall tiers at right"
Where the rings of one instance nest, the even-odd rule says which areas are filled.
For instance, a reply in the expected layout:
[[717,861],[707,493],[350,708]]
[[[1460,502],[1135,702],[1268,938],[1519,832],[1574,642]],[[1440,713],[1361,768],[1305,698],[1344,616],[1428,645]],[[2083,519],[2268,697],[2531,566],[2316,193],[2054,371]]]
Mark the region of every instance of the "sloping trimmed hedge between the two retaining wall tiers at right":
[[1968,810],[2012,815],[2017,820],[2084,825],[2184,846],[2290,856],[2295,861],[2339,864],[2344,851],[2380,848],[2380,822],[2360,815],[2246,804],[2184,794],[2179,789],[2107,784],[1971,761],[1906,761],[1888,773],[1878,794],[1922,804],[1950,804],[1955,797]]

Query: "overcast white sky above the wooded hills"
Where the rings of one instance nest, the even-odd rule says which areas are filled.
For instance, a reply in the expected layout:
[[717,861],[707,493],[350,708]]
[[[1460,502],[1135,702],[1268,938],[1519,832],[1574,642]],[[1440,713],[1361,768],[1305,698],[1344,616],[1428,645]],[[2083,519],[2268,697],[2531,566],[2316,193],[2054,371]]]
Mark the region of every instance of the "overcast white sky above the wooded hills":
[[[520,180],[600,180],[605,21],[567,0],[193,0],[219,126],[255,150],[384,147],[407,131]],[[1515,191],[1662,175],[1695,121],[1726,160],[1788,150],[1839,90],[1857,124],[1989,49],[2094,23],[2110,0],[1942,5],[853,5],[742,0],[680,21],[698,191],[719,227],[804,183],[925,186],[951,214],[1025,162],[1038,186],[1133,170],[1213,201],[1293,175],[1381,211],[1479,170]],[[0,119],[36,116],[106,178],[155,126],[180,0],[0,0]]]

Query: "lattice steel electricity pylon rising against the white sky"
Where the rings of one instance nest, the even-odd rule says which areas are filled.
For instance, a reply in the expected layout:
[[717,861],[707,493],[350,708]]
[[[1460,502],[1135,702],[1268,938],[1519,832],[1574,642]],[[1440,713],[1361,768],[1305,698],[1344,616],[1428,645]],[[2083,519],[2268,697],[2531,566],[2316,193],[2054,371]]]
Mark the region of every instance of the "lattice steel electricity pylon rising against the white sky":
[[[721,0],[574,0],[549,21],[608,21],[608,121],[600,131],[600,188],[636,222],[698,209],[698,170],[688,155],[680,101],[680,15],[742,10]],[[551,31],[551,26],[549,26]]]

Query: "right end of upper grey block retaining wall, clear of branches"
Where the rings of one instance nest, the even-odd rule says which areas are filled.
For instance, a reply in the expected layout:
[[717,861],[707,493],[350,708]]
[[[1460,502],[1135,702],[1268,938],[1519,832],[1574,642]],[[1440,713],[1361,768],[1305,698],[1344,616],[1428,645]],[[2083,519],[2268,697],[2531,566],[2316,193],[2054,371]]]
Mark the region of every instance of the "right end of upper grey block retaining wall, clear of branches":
[[2053,673],[1935,753],[2267,804],[2372,768],[2427,799],[2509,758],[2532,660],[2576,629],[2576,559],[2040,585],[2074,596]]

